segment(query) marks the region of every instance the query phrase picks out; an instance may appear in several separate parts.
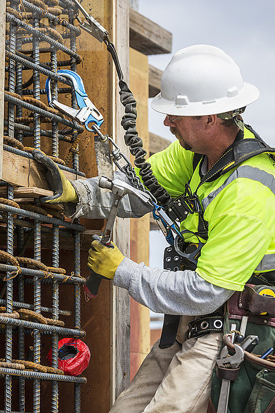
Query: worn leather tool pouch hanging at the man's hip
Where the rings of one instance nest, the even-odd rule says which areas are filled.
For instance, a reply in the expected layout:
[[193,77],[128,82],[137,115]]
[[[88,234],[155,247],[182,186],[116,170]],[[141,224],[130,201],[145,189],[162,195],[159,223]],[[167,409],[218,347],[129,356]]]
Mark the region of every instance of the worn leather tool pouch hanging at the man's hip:
[[[263,291],[264,287],[270,288],[247,284],[241,293],[234,293],[227,303],[224,334],[230,332],[232,323],[239,330],[241,319],[246,315],[249,318],[245,336],[259,337],[253,354],[245,352],[239,374],[235,381],[231,381],[228,413],[275,413],[275,357],[259,357],[275,343],[275,298],[260,295],[259,291]],[[217,369],[214,369],[208,413],[217,412],[221,389],[219,376]]]

